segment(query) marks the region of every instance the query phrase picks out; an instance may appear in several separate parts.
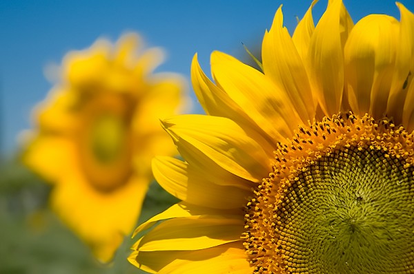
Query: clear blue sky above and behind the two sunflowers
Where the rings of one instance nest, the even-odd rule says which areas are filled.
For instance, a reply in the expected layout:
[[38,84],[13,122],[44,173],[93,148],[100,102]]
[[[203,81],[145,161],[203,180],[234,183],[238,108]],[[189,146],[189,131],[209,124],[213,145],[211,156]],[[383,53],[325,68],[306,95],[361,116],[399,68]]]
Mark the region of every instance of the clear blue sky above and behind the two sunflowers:
[[[414,10],[413,0],[401,2]],[[292,32],[295,17],[302,17],[311,1],[0,1],[0,153],[17,149],[17,135],[30,127],[30,109],[52,87],[44,68],[59,64],[66,52],[88,48],[101,36],[115,41],[135,31],[146,45],[168,52],[158,71],[189,78],[195,52],[208,72],[213,50],[241,56],[242,43],[248,48],[259,45],[281,3],[284,24]],[[392,0],[344,3],[354,22],[370,13],[400,19]],[[325,7],[326,1],[317,3],[315,19]],[[201,112],[194,96],[193,101],[195,112]]]

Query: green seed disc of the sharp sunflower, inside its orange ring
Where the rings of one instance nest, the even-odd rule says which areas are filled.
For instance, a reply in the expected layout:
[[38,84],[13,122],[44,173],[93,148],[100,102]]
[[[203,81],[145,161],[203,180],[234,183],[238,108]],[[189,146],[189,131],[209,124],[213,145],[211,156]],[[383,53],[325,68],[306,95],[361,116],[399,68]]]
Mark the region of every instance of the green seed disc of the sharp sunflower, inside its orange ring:
[[413,273],[413,172],[351,147],[299,173],[275,210],[288,273]]

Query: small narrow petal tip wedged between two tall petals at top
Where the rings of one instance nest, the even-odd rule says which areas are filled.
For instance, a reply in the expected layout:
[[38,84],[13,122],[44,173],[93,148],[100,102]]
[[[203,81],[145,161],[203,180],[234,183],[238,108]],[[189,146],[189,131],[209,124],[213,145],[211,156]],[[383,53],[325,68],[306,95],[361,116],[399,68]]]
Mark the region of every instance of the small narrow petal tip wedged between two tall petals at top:
[[317,3],[317,0],[312,1],[311,7],[308,8],[304,18],[299,21],[295,32],[293,32],[292,40],[297,48],[297,53],[302,59],[306,58],[308,54],[309,44],[311,43],[311,37],[315,30],[315,24],[313,23],[312,8]]

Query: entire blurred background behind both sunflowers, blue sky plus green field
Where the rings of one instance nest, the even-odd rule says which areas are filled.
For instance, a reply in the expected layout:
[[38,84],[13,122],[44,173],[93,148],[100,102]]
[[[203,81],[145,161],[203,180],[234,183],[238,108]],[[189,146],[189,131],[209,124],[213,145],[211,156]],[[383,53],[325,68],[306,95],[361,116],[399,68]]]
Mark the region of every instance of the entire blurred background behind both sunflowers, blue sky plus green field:
[[[326,7],[319,1],[315,22]],[[140,273],[126,261],[134,242],[126,238],[115,260],[97,262],[83,243],[48,209],[50,186],[19,162],[19,134],[32,125],[31,110],[52,83],[45,76],[70,50],[96,39],[117,41],[138,32],[146,48],[159,46],[166,62],[156,72],[176,72],[189,81],[198,52],[209,75],[213,50],[253,63],[243,44],[259,58],[262,37],[280,4],[293,33],[311,1],[0,1],[0,273]],[[400,19],[395,1],[344,0],[354,23],[371,13]],[[414,1],[402,0],[414,11]],[[202,109],[190,88],[193,113]],[[176,202],[157,184],[144,201],[142,222]]]

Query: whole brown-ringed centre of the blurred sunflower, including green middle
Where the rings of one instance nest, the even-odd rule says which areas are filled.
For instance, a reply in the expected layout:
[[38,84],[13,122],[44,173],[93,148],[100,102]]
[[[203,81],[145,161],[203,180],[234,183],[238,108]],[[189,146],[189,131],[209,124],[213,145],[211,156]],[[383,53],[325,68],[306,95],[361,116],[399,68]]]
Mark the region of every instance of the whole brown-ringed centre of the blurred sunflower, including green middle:
[[128,182],[132,171],[130,106],[109,94],[92,98],[83,109],[79,159],[86,179],[98,191],[110,192]]

